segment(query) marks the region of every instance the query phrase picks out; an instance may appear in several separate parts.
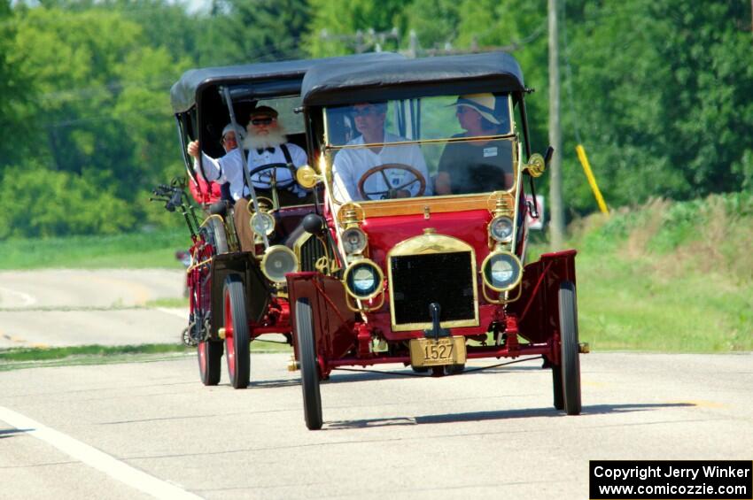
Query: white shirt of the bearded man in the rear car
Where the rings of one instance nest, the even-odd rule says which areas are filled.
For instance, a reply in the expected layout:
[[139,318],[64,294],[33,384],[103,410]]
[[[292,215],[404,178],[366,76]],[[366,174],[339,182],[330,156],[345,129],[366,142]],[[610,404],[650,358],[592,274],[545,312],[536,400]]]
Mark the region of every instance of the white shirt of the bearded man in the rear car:
[[[288,152],[291,154],[293,165],[298,168],[299,166],[306,165],[306,151],[296,144],[288,142],[285,144]],[[206,172],[208,181],[215,181],[219,183],[230,183],[230,195],[233,199],[240,199],[245,196],[251,195],[248,188],[245,187],[244,173],[243,173],[243,158],[241,158],[240,149],[236,148],[231,150],[227,155],[222,158],[210,158],[206,153],[202,152],[202,163]],[[199,172],[197,161],[194,160],[194,170]],[[273,163],[287,163],[285,154],[279,146],[274,150],[249,150],[248,152],[248,169],[251,172],[254,168],[261,165],[270,165]],[[263,172],[255,173],[252,175],[252,183],[254,188],[268,189],[270,188],[270,178],[272,173],[275,173],[277,184],[287,183],[291,181],[291,171],[287,168],[275,168],[265,170]],[[301,188],[298,184],[293,182],[290,190],[298,196],[306,196],[307,192]]]

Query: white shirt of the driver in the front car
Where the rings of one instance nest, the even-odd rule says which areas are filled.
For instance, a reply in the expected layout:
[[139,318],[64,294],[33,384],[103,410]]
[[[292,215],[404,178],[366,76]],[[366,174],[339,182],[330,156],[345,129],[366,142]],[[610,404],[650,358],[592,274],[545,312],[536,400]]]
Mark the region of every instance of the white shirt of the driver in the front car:
[[[401,141],[407,141],[407,139],[398,135],[384,135],[384,142]],[[347,143],[349,146],[360,144],[364,144],[363,135]],[[390,163],[399,163],[414,167],[423,175],[423,179],[426,181],[423,196],[431,196],[431,182],[421,148],[417,144],[406,144],[401,146],[384,146],[378,153],[369,148],[339,150],[335,155],[335,161],[332,165],[335,198],[341,202],[365,199],[358,192],[358,181],[361,180],[361,176],[371,167]],[[400,188],[408,181],[415,179],[412,173],[397,168],[387,169],[384,173],[386,174],[387,181],[390,183],[389,186],[384,181],[384,175],[381,173],[372,174],[363,185],[364,192],[367,194],[371,193],[369,198],[366,199],[380,199],[381,195],[373,193],[387,191],[391,188]],[[414,182],[402,189],[408,189],[410,196],[415,196],[420,187],[420,182]]]

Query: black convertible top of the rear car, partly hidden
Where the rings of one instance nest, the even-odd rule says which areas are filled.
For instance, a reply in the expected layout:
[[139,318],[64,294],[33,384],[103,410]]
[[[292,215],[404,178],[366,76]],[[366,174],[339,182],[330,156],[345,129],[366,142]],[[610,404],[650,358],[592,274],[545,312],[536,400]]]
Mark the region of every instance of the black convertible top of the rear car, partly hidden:
[[[353,62],[377,62],[389,59],[401,59],[402,56],[392,52],[371,52],[356,56],[340,58],[300,59],[293,61],[279,61],[271,63],[256,63],[252,65],[233,65],[191,69],[182,74],[170,88],[170,101],[173,111],[177,113],[189,111],[195,104],[198,94],[203,88],[218,83],[247,83],[249,81],[291,81],[291,92],[298,93],[298,86],[303,75],[315,65],[345,64]],[[284,86],[284,83],[282,84]],[[277,85],[281,91],[285,88]]]

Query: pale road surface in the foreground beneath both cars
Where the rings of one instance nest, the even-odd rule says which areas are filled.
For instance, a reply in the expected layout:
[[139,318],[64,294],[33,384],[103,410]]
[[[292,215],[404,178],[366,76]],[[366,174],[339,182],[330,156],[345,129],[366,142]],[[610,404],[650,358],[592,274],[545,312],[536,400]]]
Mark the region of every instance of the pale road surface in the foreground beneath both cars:
[[286,360],[246,390],[195,358],[0,373],[0,497],[577,499],[589,459],[753,458],[751,354],[582,356],[577,417],[538,361],[335,373],[314,432]]

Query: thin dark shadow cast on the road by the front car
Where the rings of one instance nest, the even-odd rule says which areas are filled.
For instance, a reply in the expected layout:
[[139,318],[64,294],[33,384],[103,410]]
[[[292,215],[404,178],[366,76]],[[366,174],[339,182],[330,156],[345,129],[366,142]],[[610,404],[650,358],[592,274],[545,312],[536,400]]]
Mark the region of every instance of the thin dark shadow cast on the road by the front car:
[[[693,407],[693,403],[638,403],[638,404],[594,404],[584,406],[581,415],[610,415],[627,412],[648,412],[665,408]],[[325,422],[325,429],[353,429],[369,427],[415,426],[422,424],[448,424],[484,420],[563,418],[566,415],[555,408],[530,408],[525,410],[500,410],[495,412],[442,413],[416,417],[390,417],[384,419],[341,420]]]

